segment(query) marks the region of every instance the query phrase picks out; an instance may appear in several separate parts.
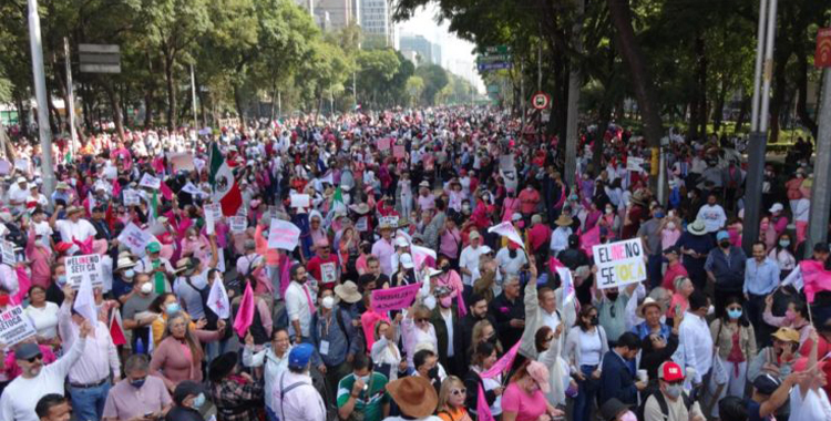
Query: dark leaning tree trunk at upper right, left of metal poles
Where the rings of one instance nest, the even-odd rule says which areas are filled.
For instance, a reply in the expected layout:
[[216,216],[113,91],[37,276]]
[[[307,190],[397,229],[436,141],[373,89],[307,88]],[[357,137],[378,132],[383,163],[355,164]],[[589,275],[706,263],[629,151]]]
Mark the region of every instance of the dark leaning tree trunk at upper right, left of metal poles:
[[620,55],[629,69],[629,76],[632,78],[638,109],[644,116],[644,134],[649,146],[659,147],[660,138],[664,136],[660,106],[655,93],[654,81],[646,66],[646,59],[635,39],[629,0],[606,0],[606,3],[608,4],[609,16],[616,29],[615,42],[617,50],[620,51]]

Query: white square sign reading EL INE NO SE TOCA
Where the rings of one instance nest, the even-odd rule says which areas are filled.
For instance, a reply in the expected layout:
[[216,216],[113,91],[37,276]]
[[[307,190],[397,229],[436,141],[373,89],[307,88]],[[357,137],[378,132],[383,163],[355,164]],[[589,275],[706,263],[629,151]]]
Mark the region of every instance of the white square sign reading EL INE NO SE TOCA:
[[644,246],[640,238],[626,239],[592,247],[597,266],[597,288],[615,288],[646,279]]

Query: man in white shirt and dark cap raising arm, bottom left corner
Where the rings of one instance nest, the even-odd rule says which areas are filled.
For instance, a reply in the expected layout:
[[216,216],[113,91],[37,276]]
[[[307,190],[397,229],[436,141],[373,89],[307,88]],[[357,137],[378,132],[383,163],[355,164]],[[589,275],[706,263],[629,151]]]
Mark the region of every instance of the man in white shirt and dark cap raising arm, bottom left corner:
[[[34,407],[40,398],[58,393],[63,396],[63,381],[70,368],[84,353],[86,336],[92,331],[89,322],[81,325],[79,340],[68,355],[49,366],[43,366],[43,355],[37,343],[22,343],[14,351],[14,358],[22,372],[12,380],[0,397],[0,420],[38,421]],[[3,356],[3,359],[6,356]]]

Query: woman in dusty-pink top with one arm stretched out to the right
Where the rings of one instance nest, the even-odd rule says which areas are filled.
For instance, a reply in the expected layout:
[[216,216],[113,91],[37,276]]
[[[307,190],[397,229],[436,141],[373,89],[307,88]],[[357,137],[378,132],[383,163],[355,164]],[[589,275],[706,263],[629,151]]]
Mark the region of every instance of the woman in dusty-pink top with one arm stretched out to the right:
[[167,390],[173,392],[183,380],[202,381],[202,342],[216,341],[225,330],[225,321],[219,320],[217,331],[191,330],[189,318],[176,312],[167,318],[162,342],[153,351],[151,371],[162,378]]

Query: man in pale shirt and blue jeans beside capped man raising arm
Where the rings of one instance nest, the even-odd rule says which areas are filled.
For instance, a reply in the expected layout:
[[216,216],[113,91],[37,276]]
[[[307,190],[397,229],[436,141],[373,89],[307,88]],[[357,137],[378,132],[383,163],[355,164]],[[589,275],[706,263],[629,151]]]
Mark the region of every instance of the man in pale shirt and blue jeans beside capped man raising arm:
[[[75,294],[71,288],[64,289],[64,299],[58,311],[58,331],[64,346],[71,347],[78,339],[84,317],[72,311]],[[94,335],[86,339],[86,348],[81,358],[69,372],[69,391],[72,396],[72,409],[80,420],[100,420],[104,414],[104,403],[110,392],[110,370],[113,380],[121,378],[119,350],[113,345],[110,329],[102,321],[94,326]]]

